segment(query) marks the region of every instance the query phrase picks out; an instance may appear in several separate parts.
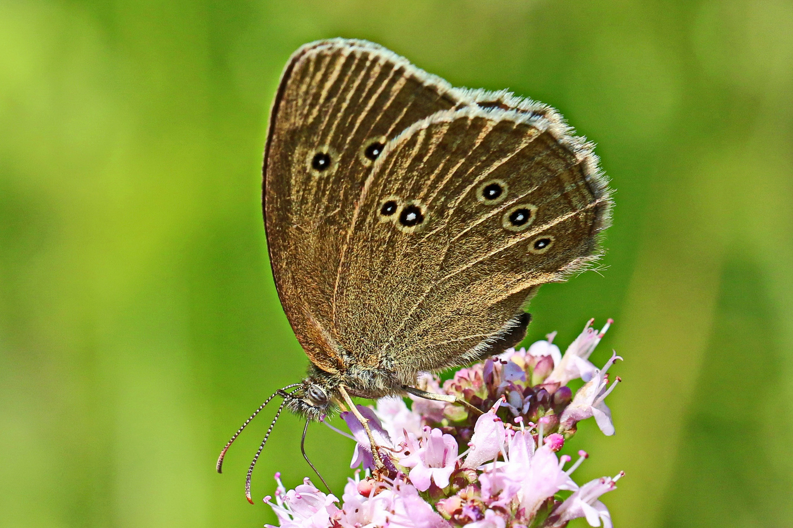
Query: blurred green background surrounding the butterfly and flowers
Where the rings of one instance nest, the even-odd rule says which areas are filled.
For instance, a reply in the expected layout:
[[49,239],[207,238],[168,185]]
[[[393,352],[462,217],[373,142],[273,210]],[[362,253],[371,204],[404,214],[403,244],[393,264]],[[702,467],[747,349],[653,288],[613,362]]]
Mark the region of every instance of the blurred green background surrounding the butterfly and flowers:
[[[305,355],[259,203],[289,54],[374,40],[454,85],[552,104],[617,189],[599,273],[530,338],[616,324],[615,525],[793,526],[793,4],[781,0],[0,0],[0,526],[261,526],[255,422]],[[266,416],[271,416],[272,411]],[[591,420],[590,420],[591,421]],[[309,469],[286,416],[254,494]],[[308,450],[339,489],[351,443]],[[577,526],[582,526],[579,523]]]

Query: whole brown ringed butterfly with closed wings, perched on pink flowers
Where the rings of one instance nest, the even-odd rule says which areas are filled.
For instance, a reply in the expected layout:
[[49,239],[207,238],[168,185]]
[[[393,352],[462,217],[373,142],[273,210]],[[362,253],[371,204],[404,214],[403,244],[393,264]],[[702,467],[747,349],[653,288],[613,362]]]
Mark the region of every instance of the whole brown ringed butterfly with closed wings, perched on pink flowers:
[[416,389],[417,375],[519,343],[538,287],[596,258],[611,208],[597,165],[546,104],[454,88],[363,40],[297,50],[270,112],[262,198],[278,295],[311,364],[276,393],[276,418],[346,405],[366,426],[351,396],[454,401]]

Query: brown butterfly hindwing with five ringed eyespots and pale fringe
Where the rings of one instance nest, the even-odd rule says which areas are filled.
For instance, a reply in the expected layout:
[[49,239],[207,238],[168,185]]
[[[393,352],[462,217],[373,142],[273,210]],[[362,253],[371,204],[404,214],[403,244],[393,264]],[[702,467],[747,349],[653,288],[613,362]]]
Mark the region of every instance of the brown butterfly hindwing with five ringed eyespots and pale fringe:
[[539,285],[592,260],[610,202],[591,147],[566,132],[472,106],[389,142],[339,263],[340,344],[397,372],[469,363]]

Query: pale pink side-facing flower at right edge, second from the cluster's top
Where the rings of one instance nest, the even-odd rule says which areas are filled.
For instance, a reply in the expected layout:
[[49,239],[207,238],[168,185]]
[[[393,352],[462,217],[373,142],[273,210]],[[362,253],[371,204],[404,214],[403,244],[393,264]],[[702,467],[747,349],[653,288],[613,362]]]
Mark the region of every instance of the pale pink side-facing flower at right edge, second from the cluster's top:
[[622,359],[619,355],[611,355],[603,370],[595,370],[595,374],[583,387],[578,389],[573,401],[568,405],[559,419],[561,431],[573,429],[577,422],[586,420],[590,416],[595,416],[597,426],[603,435],[611,436],[614,434],[614,423],[611,421],[611,409],[603,401],[620,382],[617,378],[611,386],[608,386],[607,371],[617,359]]

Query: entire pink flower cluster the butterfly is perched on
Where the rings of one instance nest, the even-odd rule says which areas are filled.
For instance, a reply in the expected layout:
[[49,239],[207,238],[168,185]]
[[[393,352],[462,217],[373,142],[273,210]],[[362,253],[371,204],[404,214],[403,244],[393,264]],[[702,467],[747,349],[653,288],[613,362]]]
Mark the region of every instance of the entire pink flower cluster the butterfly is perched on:
[[[555,334],[528,350],[508,350],[498,358],[459,370],[443,387],[423,378],[422,388],[454,394],[480,408],[472,416],[464,406],[414,398],[383,398],[377,408],[358,405],[369,420],[388,466],[375,472],[369,440],[351,412],[342,416],[357,441],[351,467],[366,477],[349,479],[342,500],[326,495],[308,478],[286,491],[276,475],[273,507],[282,528],[558,528],[583,517],[590,526],[611,528],[611,515],[600,496],[622,477],[601,477],[579,486],[570,477],[577,462],[557,451],[580,420],[594,417],[606,435],[614,434],[604,398],[607,370],[621,359],[612,355],[603,369],[588,357],[603,337],[592,321],[565,355],[553,344]],[[575,396],[566,383],[582,378]],[[269,528],[274,526],[266,525]]]

